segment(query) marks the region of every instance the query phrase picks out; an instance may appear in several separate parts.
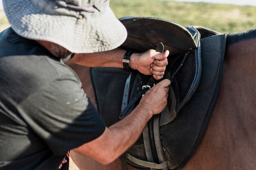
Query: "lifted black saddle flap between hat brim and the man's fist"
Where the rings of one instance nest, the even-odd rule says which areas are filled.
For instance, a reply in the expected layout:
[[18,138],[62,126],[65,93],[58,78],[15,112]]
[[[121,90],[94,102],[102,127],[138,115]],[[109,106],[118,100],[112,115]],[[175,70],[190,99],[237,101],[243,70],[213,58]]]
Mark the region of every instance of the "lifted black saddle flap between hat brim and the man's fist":
[[162,42],[165,50],[173,55],[198,46],[198,32],[189,32],[175,22],[152,17],[124,17],[119,20],[128,32],[126,41],[120,46],[126,50],[145,52],[155,49],[157,44]]

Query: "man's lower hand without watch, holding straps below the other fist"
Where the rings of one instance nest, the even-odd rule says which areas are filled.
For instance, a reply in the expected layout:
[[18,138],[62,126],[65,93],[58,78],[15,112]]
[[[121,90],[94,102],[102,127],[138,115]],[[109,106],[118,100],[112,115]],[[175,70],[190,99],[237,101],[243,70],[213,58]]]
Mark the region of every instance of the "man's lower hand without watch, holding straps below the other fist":
[[139,104],[145,105],[146,107],[150,108],[153,115],[162,112],[167,105],[170,84],[170,80],[162,80],[146,92]]

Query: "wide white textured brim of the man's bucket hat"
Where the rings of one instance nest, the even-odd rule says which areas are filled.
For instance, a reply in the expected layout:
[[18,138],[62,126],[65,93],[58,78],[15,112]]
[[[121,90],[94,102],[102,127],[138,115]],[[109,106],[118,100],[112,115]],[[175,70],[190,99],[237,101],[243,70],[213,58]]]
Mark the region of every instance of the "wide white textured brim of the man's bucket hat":
[[3,6],[12,29],[18,35],[54,42],[72,53],[109,51],[119,47],[127,37],[126,28],[110,7],[92,20],[92,15],[97,13],[89,13],[82,19],[49,15],[40,11],[30,0],[3,0]]

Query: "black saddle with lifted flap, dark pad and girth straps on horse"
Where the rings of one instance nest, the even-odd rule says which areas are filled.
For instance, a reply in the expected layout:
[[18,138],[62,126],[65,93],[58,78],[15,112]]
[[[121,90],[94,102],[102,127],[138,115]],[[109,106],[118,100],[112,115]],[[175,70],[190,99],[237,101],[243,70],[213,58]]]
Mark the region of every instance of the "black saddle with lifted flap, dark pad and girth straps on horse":
[[[121,18],[121,22],[128,38],[120,48],[144,52],[164,44],[170,51],[164,78],[171,80],[168,106],[150,119],[143,135],[121,157],[123,169],[126,163],[141,170],[180,169],[197,148],[216,101],[226,35],[159,18]],[[132,111],[146,91],[143,86],[154,84],[152,76],[120,68],[92,68],[91,78],[107,126]]]

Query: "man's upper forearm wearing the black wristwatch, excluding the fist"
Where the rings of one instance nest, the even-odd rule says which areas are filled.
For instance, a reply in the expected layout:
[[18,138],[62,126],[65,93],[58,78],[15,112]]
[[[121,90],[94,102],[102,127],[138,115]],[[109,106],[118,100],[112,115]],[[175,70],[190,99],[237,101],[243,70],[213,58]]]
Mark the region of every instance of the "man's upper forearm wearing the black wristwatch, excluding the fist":
[[[75,54],[69,61],[89,67],[117,67],[123,68],[123,58],[126,50],[114,49],[99,53]],[[130,64],[134,65],[135,57],[130,58]]]

